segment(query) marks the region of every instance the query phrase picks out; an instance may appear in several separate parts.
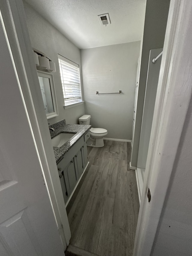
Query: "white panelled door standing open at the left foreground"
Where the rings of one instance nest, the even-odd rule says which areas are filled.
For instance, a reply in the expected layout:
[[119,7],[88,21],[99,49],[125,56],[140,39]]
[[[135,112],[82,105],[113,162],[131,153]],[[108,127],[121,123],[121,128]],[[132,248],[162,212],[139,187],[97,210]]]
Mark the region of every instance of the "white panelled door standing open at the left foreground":
[[0,255],[64,255],[0,23]]

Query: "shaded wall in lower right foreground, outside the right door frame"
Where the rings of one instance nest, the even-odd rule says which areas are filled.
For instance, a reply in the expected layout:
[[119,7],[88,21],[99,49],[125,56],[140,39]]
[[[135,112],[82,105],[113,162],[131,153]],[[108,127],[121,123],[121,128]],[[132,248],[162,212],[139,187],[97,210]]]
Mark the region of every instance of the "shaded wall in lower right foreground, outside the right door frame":
[[172,180],[151,255],[188,256],[192,251],[192,99],[186,115]]

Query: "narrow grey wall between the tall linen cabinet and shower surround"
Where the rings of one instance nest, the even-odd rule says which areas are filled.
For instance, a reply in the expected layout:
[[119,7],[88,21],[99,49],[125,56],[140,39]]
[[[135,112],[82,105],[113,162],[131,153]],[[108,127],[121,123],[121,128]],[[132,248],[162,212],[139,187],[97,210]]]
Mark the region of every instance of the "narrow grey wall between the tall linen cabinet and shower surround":
[[149,51],[163,48],[170,0],[147,0],[131,166],[137,167]]

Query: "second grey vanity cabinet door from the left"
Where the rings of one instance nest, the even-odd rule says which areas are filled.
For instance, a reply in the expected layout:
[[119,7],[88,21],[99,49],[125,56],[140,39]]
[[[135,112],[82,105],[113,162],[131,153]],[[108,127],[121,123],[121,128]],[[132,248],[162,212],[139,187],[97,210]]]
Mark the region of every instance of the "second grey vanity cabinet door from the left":
[[69,197],[76,185],[76,182],[77,182],[76,173],[75,173],[75,165],[74,165],[73,159],[64,168],[63,174],[64,174],[64,182],[66,185],[67,195]]

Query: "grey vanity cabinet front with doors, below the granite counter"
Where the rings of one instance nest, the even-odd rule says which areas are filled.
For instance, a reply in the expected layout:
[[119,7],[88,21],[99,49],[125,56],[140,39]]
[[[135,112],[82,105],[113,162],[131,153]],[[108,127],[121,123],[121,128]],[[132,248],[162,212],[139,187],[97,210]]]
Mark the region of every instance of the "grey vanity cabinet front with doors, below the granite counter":
[[86,140],[89,134],[88,131],[86,136],[82,136],[57,164],[65,204],[68,203],[88,163]]

